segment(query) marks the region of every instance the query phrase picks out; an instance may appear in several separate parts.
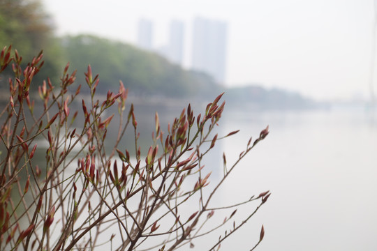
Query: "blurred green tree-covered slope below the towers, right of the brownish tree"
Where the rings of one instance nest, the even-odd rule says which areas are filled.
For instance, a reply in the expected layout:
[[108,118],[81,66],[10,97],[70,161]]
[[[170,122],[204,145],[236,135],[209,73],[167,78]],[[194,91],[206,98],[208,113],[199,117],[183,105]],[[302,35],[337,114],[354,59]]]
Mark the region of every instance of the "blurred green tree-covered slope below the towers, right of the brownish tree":
[[[66,36],[61,44],[66,61],[79,73],[89,63],[98,71],[98,92],[114,91],[119,79],[141,95],[190,97],[218,91],[207,75],[183,70],[158,54],[131,45],[89,35]],[[84,81],[83,76],[77,78],[79,83]]]

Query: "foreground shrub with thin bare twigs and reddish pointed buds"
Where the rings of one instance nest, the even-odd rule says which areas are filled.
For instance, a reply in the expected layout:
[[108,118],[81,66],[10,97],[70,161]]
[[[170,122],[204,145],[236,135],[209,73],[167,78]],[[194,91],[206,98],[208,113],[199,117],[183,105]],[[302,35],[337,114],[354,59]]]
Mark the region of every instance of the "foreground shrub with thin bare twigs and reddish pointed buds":
[[[222,94],[196,117],[188,105],[165,133],[156,113],[154,144],[142,152],[133,105],[124,115],[128,90],[122,82],[118,93],[97,96],[98,75],[88,66],[85,78],[90,94],[80,96],[80,86],[69,90],[76,72],[68,73],[67,64],[59,86],[47,79],[38,86],[38,94],[29,93],[33,77],[43,65],[42,54],[26,68],[21,68],[21,61],[17,50],[4,47],[1,51],[0,72],[11,64],[15,77],[8,80],[9,102],[0,114],[4,151],[0,163],[0,250],[94,250],[103,245],[107,250],[177,250],[225,227],[237,210],[208,228],[216,211],[259,201],[242,222],[233,222],[230,231],[214,240],[209,249],[214,250],[267,201],[268,191],[237,205],[211,207],[223,181],[268,134],[267,127],[257,139],[250,139],[232,165],[224,154],[224,174],[208,190],[211,172],[202,160],[224,138],[213,132],[225,105],[219,105]],[[82,110],[75,111],[79,97]],[[105,112],[115,105],[119,131],[108,149],[105,140],[114,114]],[[134,138],[132,150],[119,146],[128,130]],[[47,144],[45,151],[37,144]],[[43,167],[34,160],[37,153],[45,157]],[[263,236],[262,227],[260,241]]]

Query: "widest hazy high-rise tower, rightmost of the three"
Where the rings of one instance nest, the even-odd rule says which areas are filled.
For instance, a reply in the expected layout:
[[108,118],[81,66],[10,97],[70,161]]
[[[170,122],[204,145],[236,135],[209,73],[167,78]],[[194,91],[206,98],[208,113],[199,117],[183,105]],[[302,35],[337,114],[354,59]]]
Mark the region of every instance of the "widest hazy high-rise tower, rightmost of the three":
[[197,17],[193,22],[192,68],[223,84],[226,75],[227,24]]

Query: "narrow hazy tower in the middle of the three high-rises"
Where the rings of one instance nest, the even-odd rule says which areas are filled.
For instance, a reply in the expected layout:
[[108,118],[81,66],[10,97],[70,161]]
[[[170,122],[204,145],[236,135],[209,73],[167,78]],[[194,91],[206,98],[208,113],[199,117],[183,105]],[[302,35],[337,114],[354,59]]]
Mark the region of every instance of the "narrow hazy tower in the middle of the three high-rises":
[[182,66],[184,52],[184,23],[173,20],[170,22],[168,58]]

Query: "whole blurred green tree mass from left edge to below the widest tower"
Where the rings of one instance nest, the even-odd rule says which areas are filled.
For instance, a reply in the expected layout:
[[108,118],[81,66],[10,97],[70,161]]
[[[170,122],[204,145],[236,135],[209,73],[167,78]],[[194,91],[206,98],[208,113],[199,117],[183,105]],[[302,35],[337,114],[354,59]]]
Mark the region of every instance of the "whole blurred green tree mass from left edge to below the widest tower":
[[[70,61],[79,73],[89,63],[98,70],[98,93],[115,91],[119,79],[133,93],[146,96],[193,97],[219,91],[211,77],[183,70],[158,54],[96,36],[55,38],[51,24],[39,0],[0,0],[1,48],[13,45],[24,56],[23,62],[31,61],[32,56],[44,50],[42,74],[34,79],[37,84],[43,82],[40,76],[48,75],[52,84],[57,85],[62,62]],[[5,73],[12,75],[12,70],[8,68]],[[77,78],[80,84],[84,82],[84,75]]]

